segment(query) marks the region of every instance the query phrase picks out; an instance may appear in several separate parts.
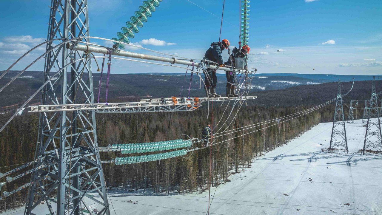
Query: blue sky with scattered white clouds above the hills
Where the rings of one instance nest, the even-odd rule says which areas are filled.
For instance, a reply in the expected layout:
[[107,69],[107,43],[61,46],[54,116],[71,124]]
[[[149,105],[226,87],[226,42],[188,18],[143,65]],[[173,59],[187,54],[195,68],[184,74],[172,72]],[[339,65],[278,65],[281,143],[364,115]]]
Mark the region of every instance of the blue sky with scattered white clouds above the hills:
[[[190,1],[218,17],[222,14],[223,0]],[[160,2],[130,41],[165,53],[202,58],[210,43],[219,40],[220,18],[190,1]],[[48,0],[0,1],[0,70],[8,68],[34,44],[46,39],[49,4]],[[111,39],[142,1],[89,0],[88,4],[91,36]],[[257,68],[258,73],[382,73],[381,0],[272,0],[251,1],[250,5],[249,46],[253,54],[250,66]],[[222,39],[236,46],[239,0],[225,2],[223,19]],[[110,45],[102,40],[92,42]],[[278,49],[282,53],[278,53]],[[43,50],[40,48],[37,52]],[[225,52],[224,58],[228,58]],[[15,69],[23,69],[34,56],[28,56]],[[41,71],[43,60],[31,69]],[[184,70],[117,60],[112,72]]]

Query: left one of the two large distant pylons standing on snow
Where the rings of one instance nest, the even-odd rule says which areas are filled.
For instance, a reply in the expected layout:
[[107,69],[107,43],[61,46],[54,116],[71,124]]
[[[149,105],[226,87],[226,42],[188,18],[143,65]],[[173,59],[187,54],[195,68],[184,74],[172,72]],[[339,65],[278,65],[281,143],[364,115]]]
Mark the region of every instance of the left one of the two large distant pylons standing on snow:
[[346,139],[345,117],[343,116],[340,79],[338,79],[337,100],[333,119],[332,137],[330,137],[328,152],[332,150],[342,150],[348,154],[348,141]]

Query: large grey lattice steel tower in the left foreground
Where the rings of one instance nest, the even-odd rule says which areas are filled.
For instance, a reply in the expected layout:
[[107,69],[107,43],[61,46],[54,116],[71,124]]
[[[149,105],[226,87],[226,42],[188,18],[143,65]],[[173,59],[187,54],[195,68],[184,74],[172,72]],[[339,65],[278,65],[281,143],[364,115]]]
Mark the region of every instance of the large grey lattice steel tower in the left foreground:
[[[89,36],[87,6],[87,0],[52,0],[47,39]],[[47,50],[56,44],[49,42]],[[45,86],[42,104],[94,103],[91,63],[85,58],[83,52],[66,49],[65,44],[45,57],[44,82],[72,64]],[[86,196],[102,205],[97,214],[110,215],[96,131],[94,112],[40,113],[35,155],[39,162],[34,167],[41,168],[31,176],[25,214],[36,214],[34,209],[42,202],[51,214],[83,214],[83,208],[91,211],[84,202]]]

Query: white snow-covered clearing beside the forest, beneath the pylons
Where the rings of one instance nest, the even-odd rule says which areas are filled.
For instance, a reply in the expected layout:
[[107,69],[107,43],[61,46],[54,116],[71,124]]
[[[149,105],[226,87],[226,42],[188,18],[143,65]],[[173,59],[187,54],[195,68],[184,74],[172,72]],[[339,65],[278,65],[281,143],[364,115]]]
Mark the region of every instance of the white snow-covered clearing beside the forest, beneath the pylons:
[[[382,156],[357,153],[365,127],[360,120],[346,123],[347,155],[321,151],[329,147],[331,130],[332,123],[321,123],[254,160],[244,173],[231,175],[230,182],[212,188],[210,214],[382,215]],[[208,195],[111,192],[110,213],[206,214]],[[97,208],[91,200],[88,203]]]

